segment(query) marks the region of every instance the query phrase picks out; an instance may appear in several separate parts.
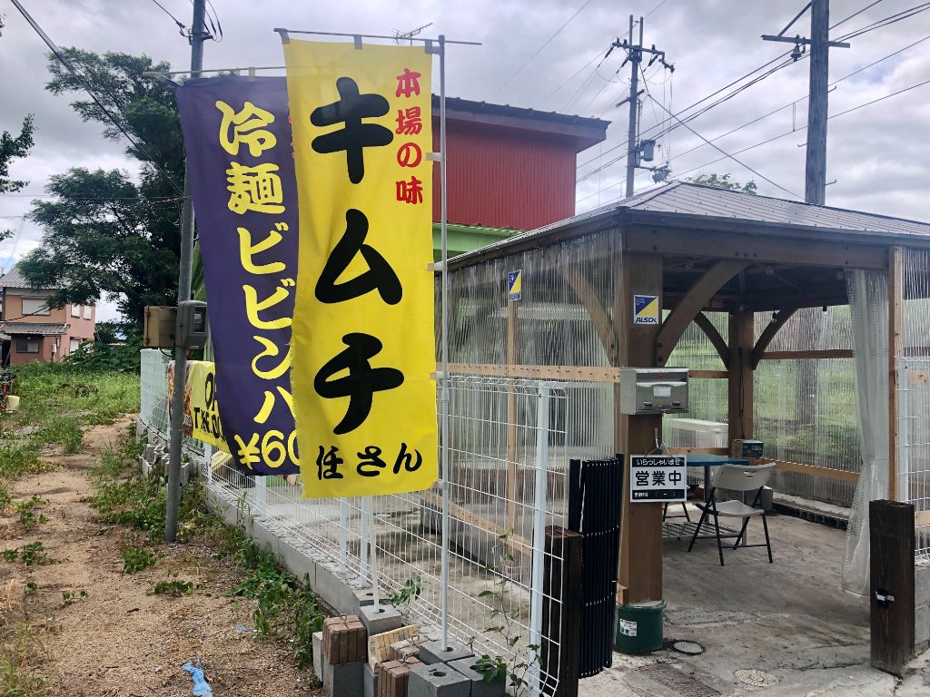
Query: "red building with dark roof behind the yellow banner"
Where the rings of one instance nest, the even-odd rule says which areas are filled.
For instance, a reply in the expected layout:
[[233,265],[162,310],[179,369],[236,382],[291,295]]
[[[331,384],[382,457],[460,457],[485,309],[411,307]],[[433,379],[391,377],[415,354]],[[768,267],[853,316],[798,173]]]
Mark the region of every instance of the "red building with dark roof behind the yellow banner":
[[[449,223],[515,230],[533,230],[575,215],[578,152],[602,142],[609,125],[469,99],[446,98],[445,116]],[[435,95],[432,128],[438,152]],[[433,220],[440,219],[439,205],[437,170]]]

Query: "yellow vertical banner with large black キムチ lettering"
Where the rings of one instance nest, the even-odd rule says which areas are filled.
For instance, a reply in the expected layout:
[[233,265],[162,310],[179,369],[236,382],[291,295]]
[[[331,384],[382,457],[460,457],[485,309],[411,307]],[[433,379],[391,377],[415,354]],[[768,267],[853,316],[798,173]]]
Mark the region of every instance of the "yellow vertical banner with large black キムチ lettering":
[[299,195],[293,386],[305,496],[437,475],[431,58],[284,46]]

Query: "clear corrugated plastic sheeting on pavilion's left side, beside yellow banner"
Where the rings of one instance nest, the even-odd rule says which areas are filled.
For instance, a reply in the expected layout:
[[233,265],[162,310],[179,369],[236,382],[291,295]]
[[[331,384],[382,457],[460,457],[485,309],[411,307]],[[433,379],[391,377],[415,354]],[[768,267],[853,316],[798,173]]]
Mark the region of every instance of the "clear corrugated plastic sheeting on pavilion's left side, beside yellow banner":
[[[478,374],[509,363],[552,369],[609,366],[604,343],[609,345],[609,318],[620,283],[620,250],[619,232],[604,230],[450,271],[450,373],[456,375],[462,364]],[[518,270],[521,296],[512,301],[508,274]],[[582,297],[593,300],[603,314],[592,318]],[[573,456],[613,456],[613,383],[571,385]],[[454,430],[453,437],[465,435]]]

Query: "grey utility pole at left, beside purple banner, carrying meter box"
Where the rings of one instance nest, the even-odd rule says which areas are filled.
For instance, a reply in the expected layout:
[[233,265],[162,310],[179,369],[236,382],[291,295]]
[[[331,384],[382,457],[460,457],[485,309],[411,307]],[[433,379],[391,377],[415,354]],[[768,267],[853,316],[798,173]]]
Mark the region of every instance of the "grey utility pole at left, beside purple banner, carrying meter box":
[[[206,0],[193,0],[191,24],[191,77],[198,77],[204,68],[204,42],[209,33],[204,29]],[[185,166],[184,202],[180,218],[180,272],[178,302],[191,299],[193,267],[193,200],[191,178]],[[187,350],[175,347],[174,392],[171,395],[170,444],[168,449],[168,489],[165,517],[165,539],[178,539],[178,505],[180,501],[180,450],[184,441],[184,384],[187,381]]]

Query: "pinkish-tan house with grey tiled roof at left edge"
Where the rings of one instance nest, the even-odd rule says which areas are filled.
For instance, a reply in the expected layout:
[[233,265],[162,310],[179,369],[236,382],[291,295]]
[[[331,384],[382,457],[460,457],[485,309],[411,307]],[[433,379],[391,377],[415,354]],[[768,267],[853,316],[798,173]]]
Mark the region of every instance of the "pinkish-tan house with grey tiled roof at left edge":
[[55,288],[32,288],[13,267],[0,276],[0,345],[4,365],[60,361],[84,341],[93,341],[97,309],[93,305],[48,307]]

